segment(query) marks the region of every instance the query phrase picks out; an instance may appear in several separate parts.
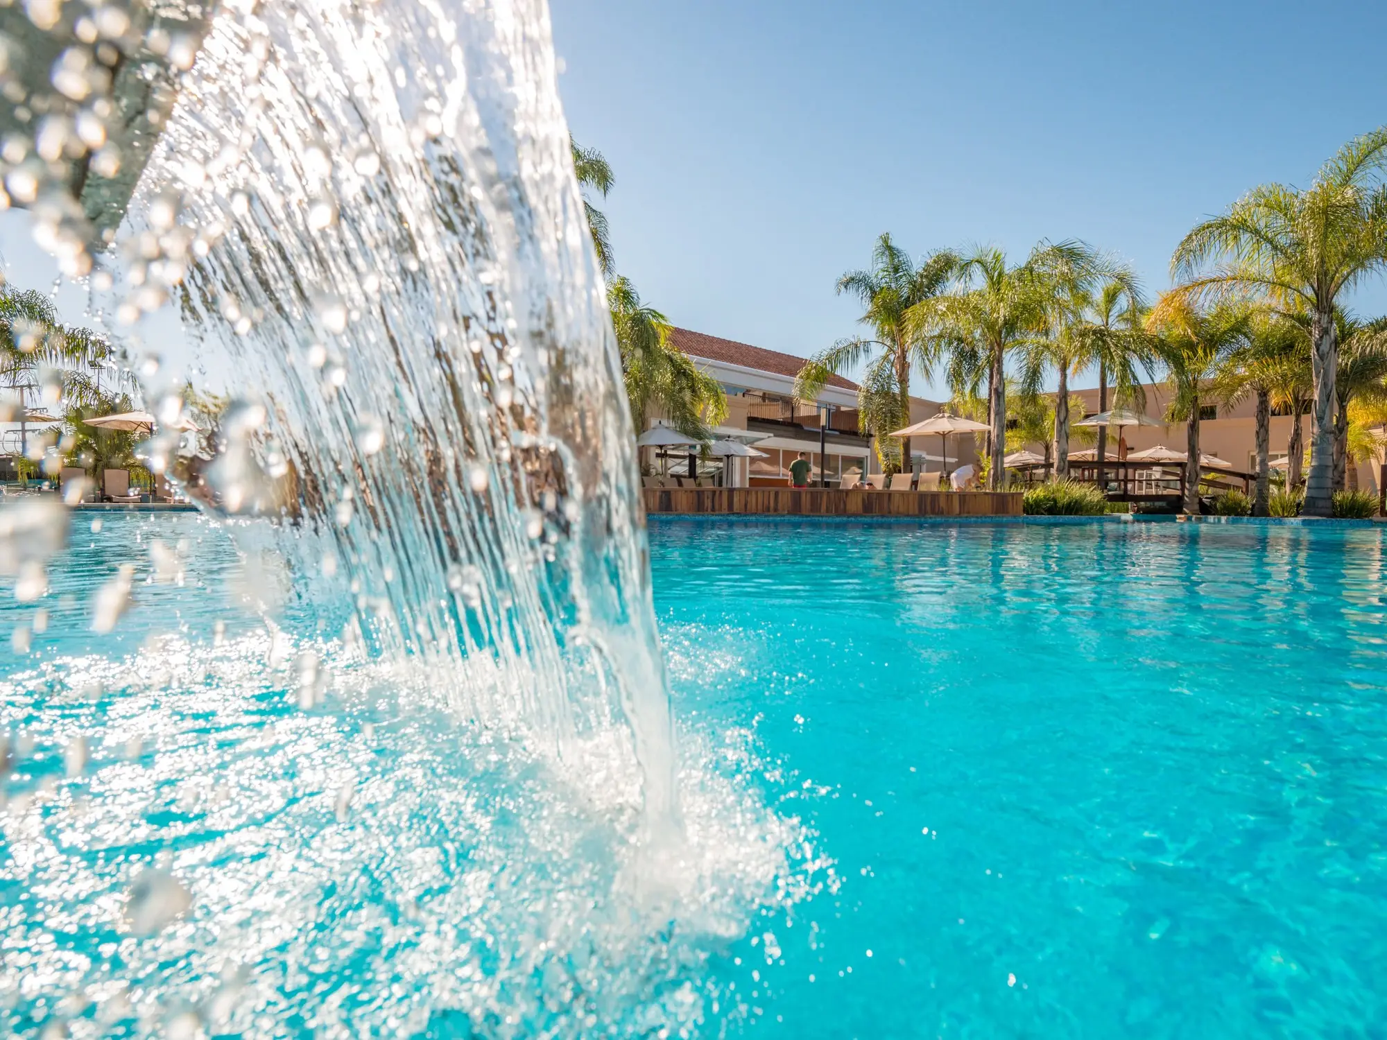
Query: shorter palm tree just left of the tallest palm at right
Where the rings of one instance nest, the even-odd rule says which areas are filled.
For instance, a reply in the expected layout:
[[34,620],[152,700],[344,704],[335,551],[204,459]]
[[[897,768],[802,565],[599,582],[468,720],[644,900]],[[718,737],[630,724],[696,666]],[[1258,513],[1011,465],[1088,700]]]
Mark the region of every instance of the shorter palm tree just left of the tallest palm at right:
[[[1272,408],[1290,408],[1293,427],[1300,428],[1295,405],[1305,361],[1300,329],[1262,308],[1250,316],[1247,338],[1232,349],[1214,377],[1214,395],[1226,406],[1239,404],[1248,394],[1257,398],[1257,491],[1252,496],[1252,516],[1270,514]],[[1298,444],[1293,447],[1298,451]]]

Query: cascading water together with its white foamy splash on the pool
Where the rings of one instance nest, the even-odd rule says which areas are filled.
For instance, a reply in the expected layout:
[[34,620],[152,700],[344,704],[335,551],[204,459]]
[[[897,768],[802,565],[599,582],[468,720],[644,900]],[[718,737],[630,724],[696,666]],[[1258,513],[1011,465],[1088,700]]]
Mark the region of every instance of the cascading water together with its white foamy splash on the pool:
[[[103,677],[140,692],[100,709],[123,750],[83,736],[62,761],[151,761],[153,800],[126,778],[68,825],[94,804],[103,833],[162,851],[112,871],[110,842],[79,840],[26,868],[21,943],[54,905],[69,930],[119,907],[126,936],[26,962],[54,989],[29,1014],[64,987],[75,1016],[96,1001],[132,1032],[663,1036],[730,1014],[703,965],[768,893],[809,890],[789,864],[813,854],[713,764],[725,749],[674,747],[544,3],[227,0],[200,40],[160,44],[176,103],[150,110],[92,284],[164,423],[153,465],[226,520],[269,628],[218,627],[205,655],[169,635]],[[75,218],[40,209],[83,273]],[[193,388],[232,398],[212,430],[178,430],[208,409],[171,336]],[[151,580],[182,581],[151,553]],[[7,696],[89,704],[92,667]],[[286,671],[298,714],[262,727]],[[212,760],[178,721],[208,711]],[[175,752],[148,760],[161,732]],[[198,825],[150,831],[165,801]],[[11,840],[40,840],[25,820]],[[0,994],[22,985],[0,971]]]

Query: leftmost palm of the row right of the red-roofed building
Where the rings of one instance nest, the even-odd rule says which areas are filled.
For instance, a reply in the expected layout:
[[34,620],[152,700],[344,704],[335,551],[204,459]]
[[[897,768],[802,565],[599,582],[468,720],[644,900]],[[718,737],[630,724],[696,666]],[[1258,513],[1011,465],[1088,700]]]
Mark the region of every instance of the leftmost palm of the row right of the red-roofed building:
[[949,287],[958,258],[940,250],[915,263],[889,234],[882,234],[871,259],[871,269],[850,270],[838,279],[838,291],[852,293],[861,301],[859,320],[872,334],[839,340],[811,358],[795,380],[795,397],[814,401],[829,377],[865,362],[859,391],[859,428],[875,434],[882,469],[895,471],[910,467],[910,438],[902,440],[902,462],[893,466],[895,448],[888,433],[910,423],[911,372],[918,369],[928,379],[933,361],[929,344],[908,330],[906,315]]

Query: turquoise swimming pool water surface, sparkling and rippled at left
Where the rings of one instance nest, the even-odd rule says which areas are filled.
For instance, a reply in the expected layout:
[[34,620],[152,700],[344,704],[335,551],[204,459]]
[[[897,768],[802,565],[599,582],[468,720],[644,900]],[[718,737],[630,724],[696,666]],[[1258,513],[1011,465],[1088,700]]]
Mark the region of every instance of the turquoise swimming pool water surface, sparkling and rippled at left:
[[[137,584],[125,624],[83,631],[85,596],[153,538],[187,539],[183,584]],[[533,768],[369,682],[291,703],[200,519],[83,531],[6,668],[25,757],[0,1026],[129,1011],[111,1021],[137,1034],[218,1000],[286,1036],[420,1008],[427,1034],[487,1037],[1387,1018],[1376,530],[660,519],[651,542],[688,822],[721,851],[698,914],[613,947],[601,821],[566,829]],[[110,739],[67,779],[79,731]],[[164,955],[114,924],[146,860],[197,899]],[[580,935],[608,946],[574,967]]]

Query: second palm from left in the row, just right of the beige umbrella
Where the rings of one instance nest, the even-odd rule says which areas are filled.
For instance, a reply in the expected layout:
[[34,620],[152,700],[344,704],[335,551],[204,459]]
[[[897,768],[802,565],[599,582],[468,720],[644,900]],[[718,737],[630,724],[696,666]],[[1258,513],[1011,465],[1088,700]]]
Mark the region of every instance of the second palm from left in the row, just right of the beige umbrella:
[[1007,426],[1007,354],[1035,343],[1047,331],[1050,293],[1046,265],[1051,254],[1076,252],[1076,243],[1042,243],[1025,263],[1010,266],[996,247],[981,247],[957,265],[956,291],[925,300],[910,309],[913,337],[929,344],[935,355],[951,356],[949,377],[956,391],[988,383],[988,485],[997,491],[1004,481]]

